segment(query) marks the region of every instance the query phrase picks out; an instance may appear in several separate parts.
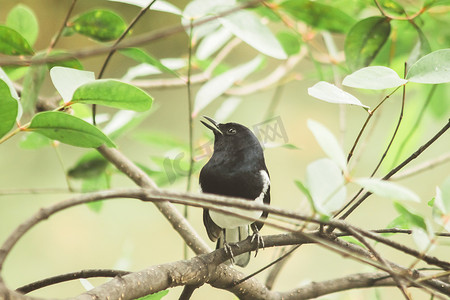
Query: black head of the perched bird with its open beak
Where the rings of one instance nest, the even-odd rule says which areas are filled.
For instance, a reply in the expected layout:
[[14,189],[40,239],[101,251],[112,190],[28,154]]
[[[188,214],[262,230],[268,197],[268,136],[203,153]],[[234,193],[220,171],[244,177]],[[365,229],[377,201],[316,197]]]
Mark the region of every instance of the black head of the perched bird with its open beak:
[[[247,147],[261,149],[258,139],[253,132],[238,123],[217,123],[204,116],[211,124],[200,121],[214,133],[214,151],[235,152]],[[262,149],[261,149],[262,151]]]

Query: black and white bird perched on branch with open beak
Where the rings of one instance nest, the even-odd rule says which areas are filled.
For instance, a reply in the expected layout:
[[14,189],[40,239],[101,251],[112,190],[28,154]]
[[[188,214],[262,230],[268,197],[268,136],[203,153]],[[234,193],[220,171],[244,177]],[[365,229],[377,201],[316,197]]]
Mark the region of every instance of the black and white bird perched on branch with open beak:
[[[211,125],[201,122],[214,133],[214,152],[200,172],[202,192],[269,204],[269,172],[264,161],[263,149],[253,132],[238,123],[219,124],[211,118],[205,119]],[[227,209],[260,220],[267,218],[268,215],[263,211],[230,207]],[[217,241],[216,248],[225,247],[231,260],[241,267],[248,264],[250,252],[234,257],[228,244],[246,239],[250,228],[253,231],[252,240],[256,239],[258,247],[262,243],[259,236],[259,230],[264,225],[262,222],[204,209],[203,224],[209,239]]]

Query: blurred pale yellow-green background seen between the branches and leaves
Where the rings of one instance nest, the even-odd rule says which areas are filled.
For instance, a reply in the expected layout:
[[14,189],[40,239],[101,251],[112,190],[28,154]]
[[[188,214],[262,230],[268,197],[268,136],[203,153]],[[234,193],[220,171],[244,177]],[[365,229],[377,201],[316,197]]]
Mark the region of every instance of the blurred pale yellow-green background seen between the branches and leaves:
[[[71,1],[41,0],[41,1],[0,1],[0,23],[4,23],[7,13],[17,3],[29,6],[37,15],[39,20],[39,37],[35,49],[45,49],[57,28],[61,26],[63,18],[70,6]],[[185,1],[172,1],[183,9]],[[127,22],[133,19],[139,9],[126,4],[109,1],[78,1],[73,15],[87,11],[91,8],[108,8],[118,12]],[[133,35],[147,32],[155,28],[162,28],[179,24],[179,17],[162,12],[148,12],[136,25]],[[342,38],[336,36],[339,43]],[[79,49],[84,46],[92,46],[94,42],[81,36],[62,38],[58,48]],[[176,34],[156,42],[145,45],[157,58],[187,57],[188,37],[185,33]],[[342,47],[342,45],[339,45]],[[341,48],[342,49],[342,48]],[[230,64],[242,62],[253,57],[256,52],[248,46],[242,45],[233,51],[229,61]],[[104,56],[91,57],[83,60],[86,70],[98,71],[103,63]],[[270,64],[278,63],[270,60]],[[123,56],[113,57],[108,66],[105,78],[120,78],[126,70],[135,63]],[[329,70],[328,70],[329,71]],[[272,205],[291,210],[308,212],[308,204],[303,195],[294,185],[295,179],[304,179],[305,168],[308,163],[315,159],[324,157],[324,153],[315,142],[311,132],[306,127],[307,119],[314,119],[326,125],[333,133],[344,142],[347,152],[362,126],[366,113],[359,107],[348,106],[340,112],[340,107],[325,102],[320,102],[308,96],[307,88],[315,84],[319,79],[313,63],[304,59],[295,69],[296,74],[302,80],[294,80],[287,83],[282,90],[280,103],[275,111],[286,130],[290,144],[294,144],[300,150],[290,150],[282,147],[266,149],[266,162],[270,171],[272,185]],[[299,78],[300,78],[299,76]],[[332,81],[332,78],[327,78]],[[199,86],[194,86],[194,93]],[[423,95],[430,87],[419,89],[411,85],[407,89],[406,110],[401,127],[400,136],[405,136],[414,123],[420,111],[425,97]],[[433,99],[433,101],[448,102],[447,88],[441,92],[444,98]],[[152,89],[148,91],[155,99],[152,113],[139,127],[140,131],[152,130],[167,133],[177,137],[183,142],[188,142],[188,107],[186,88]],[[55,91],[49,78],[46,79],[42,94],[54,95]],[[245,96],[237,111],[229,118],[252,127],[265,121],[265,113],[275,93],[274,88]],[[355,94],[365,104],[374,107],[385,95],[380,92]],[[437,97],[435,97],[437,98]],[[358,156],[358,164],[353,174],[356,176],[368,176],[375,167],[381,153],[384,151],[388,140],[398,119],[400,109],[401,93],[391,97],[373,121],[375,125],[370,130],[367,143],[361,156]],[[212,116],[220,106],[222,99],[208,106],[202,114]],[[100,113],[114,113],[114,110],[101,108]],[[345,114],[345,132],[340,130],[340,113]],[[404,155],[414,151],[418,145],[423,144],[434,135],[446,122],[447,114],[436,117],[429,111],[412,142],[408,144]],[[58,201],[71,197],[67,193],[29,193],[8,194],[12,190],[21,189],[61,189],[67,186],[64,171],[58,161],[55,150],[46,147],[38,150],[25,150],[19,147],[18,142],[22,135],[4,143],[0,147],[0,242],[16,228],[36,213],[39,208],[51,205]],[[211,134],[199,122],[194,120],[194,147],[200,147]],[[150,163],[150,156],[165,153],[158,148],[150,147],[133,138],[130,133],[121,137],[117,144],[119,150],[127,157],[143,164]],[[59,146],[65,168],[73,166],[79,157],[86,152],[84,149]],[[433,144],[412,165],[427,161],[450,149],[448,134]],[[206,163],[206,159],[200,165]],[[384,175],[391,167],[389,160],[383,164],[379,175]],[[442,164],[422,174],[402,180],[400,183],[410,187],[422,199],[421,204],[410,205],[417,211],[429,216],[431,210],[426,203],[435,194],[435,187],[442,183],[449,175],[449,164]],[[196,191],[198,174],[193,178],[193,190]],[[124,176],[114,175],[113,187],[134,187],[135,185]],[[181,178],[173,185],[166,188],[184,190],[186,188],[185,178]],[[349,195],[356,189],[350,185]],[[179,207],[180,211],[183,210]],[[366,229],[384,228],[396,217],[392,204],[387,199],[370,197],[348,220],[357,226]],[[189,221],[205,240],[207,236],[202,224],[201,209],[190,208]],[[263,234],[278,233],[277,230],[266,226]],[[414,244],[411,237],[398,238],[407,245]],[[208,241],[209,242],[209,241]],[[213,247],[213,244],[211,247]],[[384,249],[387,258],[394,259],[404,265],[414,261],[412,257],[403,256],[399,252]],[[279,253],[278,249],[265,249],[260,251],[256,258],[252,258],[250,265],[243,270],[244,273],[257,270],[264,266]],[[439,251],[432,253],[436,256],[448,259],[448,247],[441,247]],[[190,256],[193,256],[190,252]],[[116,268],[137,271],[148,266],[183,259],[183,243],[179,236],[172,230],[169,223],[160,215],[150,203],[142,203],[135,200],[108,200],[105,201],[100,212],[94,212],[87,206],[75,207],[52,216],[49,220],[42,222],[23,239],[19,241],[12,253],[9,255],[3,277],[11,288],[54,276],[57,274],[78,271],[82,269]],[[302,246],[290,258],[289,263],[276,281],[275,289],[284,291],[299,286],[303,282],[321,281],[338,278],[344,274],[361,271],[371,271],[371,268],[363,266],[351,259],[342,258],[334,253],[323,250],[315,245]],[[267,271],[258,275],[264,280]],[[103,282],[103,279],[90,280],[94,285]],[[83,291],[79,281],[72,281],[44,288],[32,293],[41,297],[69,297]],[[377,290],[380,299],[395,299],[399,292],[395,288],[384,288]],[[428,299],[426,294],[413,291],[414,299]],[[177,299],[180,288],[171,289],[165,299]],[[232,299],[234,296],[228,292],[212,289],[204,286],[197,290],[193,299],[207,299],[214,296],[215,299]],[[355,290],[342,294],[330,295],[326,299],[376,299],[374,290]]]

